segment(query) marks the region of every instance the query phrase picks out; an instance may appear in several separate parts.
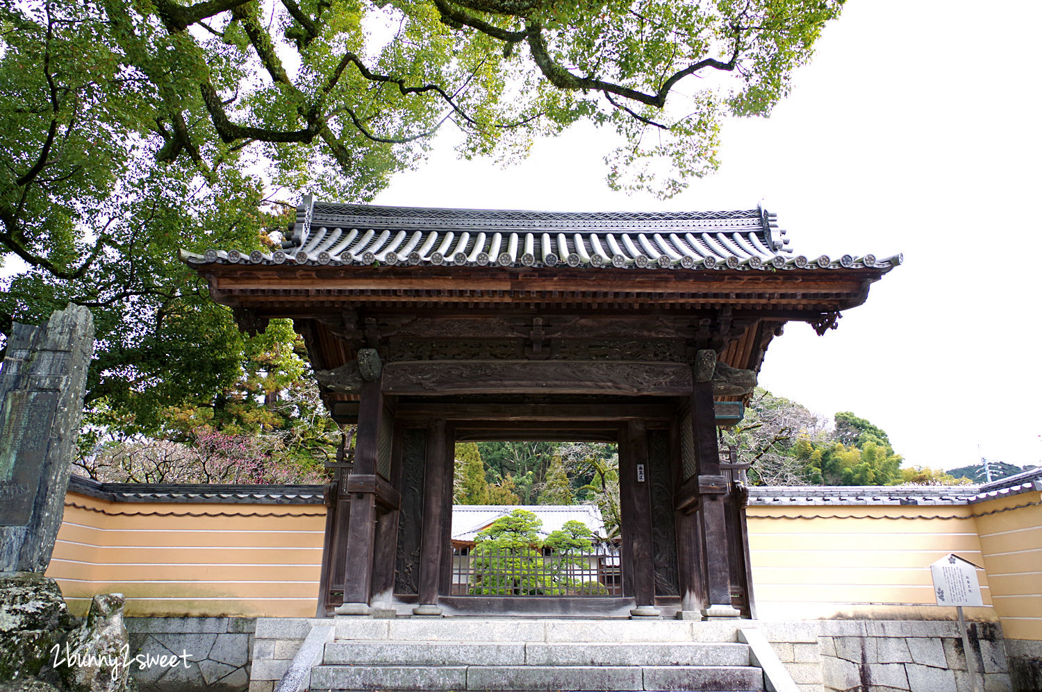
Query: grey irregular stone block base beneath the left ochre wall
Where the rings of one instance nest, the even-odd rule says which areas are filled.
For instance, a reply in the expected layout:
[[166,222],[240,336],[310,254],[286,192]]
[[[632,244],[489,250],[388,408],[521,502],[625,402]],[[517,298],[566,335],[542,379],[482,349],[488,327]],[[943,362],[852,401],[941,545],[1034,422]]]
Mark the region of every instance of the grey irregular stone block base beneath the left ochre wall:
[[[128,617],[130,656],[152,665],[130,665],[141,692],[244,692],[250,681],[255,618]],[[159,665],[162,657],[174,665]]]

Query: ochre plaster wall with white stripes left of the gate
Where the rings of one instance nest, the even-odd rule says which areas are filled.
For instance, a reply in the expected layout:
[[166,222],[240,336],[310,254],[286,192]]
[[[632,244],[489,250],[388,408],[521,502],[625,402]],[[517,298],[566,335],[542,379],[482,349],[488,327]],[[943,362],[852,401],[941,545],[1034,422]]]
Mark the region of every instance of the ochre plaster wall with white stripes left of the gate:
[[70,609],[126,596],[130,616],[315,615],[325,508],[109,503],[66,495],[48,576]]

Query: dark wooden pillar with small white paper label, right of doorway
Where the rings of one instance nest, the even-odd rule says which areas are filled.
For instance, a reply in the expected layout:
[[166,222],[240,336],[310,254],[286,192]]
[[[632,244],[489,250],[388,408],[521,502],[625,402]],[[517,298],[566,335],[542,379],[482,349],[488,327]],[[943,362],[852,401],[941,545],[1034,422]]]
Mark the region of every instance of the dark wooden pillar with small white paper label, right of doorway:
[[619,488],[622,502],[622,540],[628,545],[630,572],[637,608],[634,617],[658,617],[654,607],[654,550],[651,536],[650,469],[647,429],[643,420],[626,425],[625,444],[619,450]]

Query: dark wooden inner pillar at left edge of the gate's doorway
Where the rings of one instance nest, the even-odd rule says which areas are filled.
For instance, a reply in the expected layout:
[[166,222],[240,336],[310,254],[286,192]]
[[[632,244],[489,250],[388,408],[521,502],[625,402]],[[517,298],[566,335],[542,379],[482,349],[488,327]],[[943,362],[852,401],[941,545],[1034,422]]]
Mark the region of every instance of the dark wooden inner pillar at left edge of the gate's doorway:
[[[438,592],[442,580],[445,544],[444,499],[446,487],[451,493],[452,479],[446,472],[447,435],[444,420],[433,420],[427,428],[427,459],[423,481],[423,537],[420,544],[420,593],[414,615],[441,615]],[[450,494],[451,502],[451,494]],[[449,512],[451,512],[451,505]]]

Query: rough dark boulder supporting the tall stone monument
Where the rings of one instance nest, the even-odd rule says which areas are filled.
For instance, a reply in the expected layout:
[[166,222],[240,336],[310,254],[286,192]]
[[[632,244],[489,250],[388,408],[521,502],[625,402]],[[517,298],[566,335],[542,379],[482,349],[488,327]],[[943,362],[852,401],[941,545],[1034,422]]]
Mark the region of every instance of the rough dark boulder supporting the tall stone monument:
[[39,674],[72,626],[54,580],[32,572],[0,576],[0,682]]

